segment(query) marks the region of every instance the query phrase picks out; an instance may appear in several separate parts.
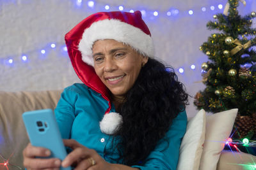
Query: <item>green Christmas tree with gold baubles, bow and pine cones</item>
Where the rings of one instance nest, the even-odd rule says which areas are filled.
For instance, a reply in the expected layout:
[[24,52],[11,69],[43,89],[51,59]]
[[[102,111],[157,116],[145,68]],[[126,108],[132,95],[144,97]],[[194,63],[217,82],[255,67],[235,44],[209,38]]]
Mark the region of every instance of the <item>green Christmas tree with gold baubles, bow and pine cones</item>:
[[256,29],[252,28],[256,13],[241,17],[238,5],[238,0],[228,0],[227,13],[218,13],[207,23],[218,33],[200,46],[209,61],[202,64],[206,88],[196,94],[194,104],[212,113],[238,108],[235,126],[243,138],[256,134]]

